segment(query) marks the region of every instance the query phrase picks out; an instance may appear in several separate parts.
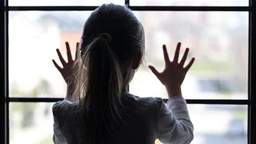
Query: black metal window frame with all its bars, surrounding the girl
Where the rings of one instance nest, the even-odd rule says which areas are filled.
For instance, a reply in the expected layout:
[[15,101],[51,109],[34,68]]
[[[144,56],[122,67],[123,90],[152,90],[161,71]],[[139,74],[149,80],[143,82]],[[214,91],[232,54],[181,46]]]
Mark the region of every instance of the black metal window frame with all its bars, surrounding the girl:
[[[249,6],[130,6],[136,11],[205,11],[205,12],[248,12],[248,99],[187,99],[188,104],[239,104],[248,106],[248,144],[256,143],[256,0],[249,0]],[[57,102],[63,98],[9,97],[8,90],[8,12],[10,11],[92,11],[97,6],[8,6],[8,0],[0,1],[0,143],[9,144],[10,102]],[[254,18],[254,19],[253,19]],[[254,58],[253,58],[254,56]],[[166,102],[168,99],[164,99]]]

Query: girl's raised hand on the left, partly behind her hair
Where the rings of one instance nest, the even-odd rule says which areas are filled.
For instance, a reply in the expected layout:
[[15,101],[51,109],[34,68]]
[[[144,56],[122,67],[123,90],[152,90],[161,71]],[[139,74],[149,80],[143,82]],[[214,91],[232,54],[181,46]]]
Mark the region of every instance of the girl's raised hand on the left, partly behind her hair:
[[77,47],[78,47],[79,43],[77,42],[77,44],[76,44],[75,60],[73,60],[73,58],[72,58],[68,42],[66,42],[65,44],[66,44],[66,48],[67,48],[67,58],[68,58],[67,62],[63,59],[63,56],[61,55],[60,50],[56,49],[56,51],[58,53],[58,56],[60,58],[60,61],[63,65],[63,68],[61,68],[60,65],[58,65],[56,63],[55,60],[52,60],[52,62],[55,65],[55,67],[59,70],[60,74],[62,75],[63,79],[68,84],[68,86],[72,86],[73,85],[72,82],[74,80],[74,79],[72,79],[72,75],[73,75],[73,72],[74,72],[74,67],[73,66],[74,66],[75,61],[77,60]]

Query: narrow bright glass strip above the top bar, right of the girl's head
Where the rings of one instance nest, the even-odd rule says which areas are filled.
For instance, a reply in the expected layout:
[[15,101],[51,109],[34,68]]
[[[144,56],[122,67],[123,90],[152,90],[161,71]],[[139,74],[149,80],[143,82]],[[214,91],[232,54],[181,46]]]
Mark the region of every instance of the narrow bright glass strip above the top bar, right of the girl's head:
[[248,6],[248,0],[130,0],[131,6]]

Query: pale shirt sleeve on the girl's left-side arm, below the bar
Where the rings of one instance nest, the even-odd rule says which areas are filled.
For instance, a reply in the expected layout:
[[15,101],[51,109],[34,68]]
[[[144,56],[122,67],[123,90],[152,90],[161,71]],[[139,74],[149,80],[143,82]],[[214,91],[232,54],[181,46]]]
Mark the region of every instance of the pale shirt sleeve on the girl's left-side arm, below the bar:
[[56,102],[52,106],[53,113],[53,137],[52,141],[54,144],[67,144],[67,141],[60,130],[60,124],[58,122],[58,115],[61,113],[61,109],[67,108],[69,104],[72,104],[68,99],[64,99],[63,101]]

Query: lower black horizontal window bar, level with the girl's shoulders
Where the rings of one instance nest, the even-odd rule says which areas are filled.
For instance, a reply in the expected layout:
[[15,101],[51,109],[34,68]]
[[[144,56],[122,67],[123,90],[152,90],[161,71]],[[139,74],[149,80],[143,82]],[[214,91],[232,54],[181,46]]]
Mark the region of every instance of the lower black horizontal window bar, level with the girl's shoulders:
[[[63,98],[38,98],[38,97],[10,97],[6,99],[7,102],[58,102],[63,100]],[[168,99],[163,99],[167,102]],[[186,99],[188,104],[250,104],[249,100],[202,100],[202,99]]]

